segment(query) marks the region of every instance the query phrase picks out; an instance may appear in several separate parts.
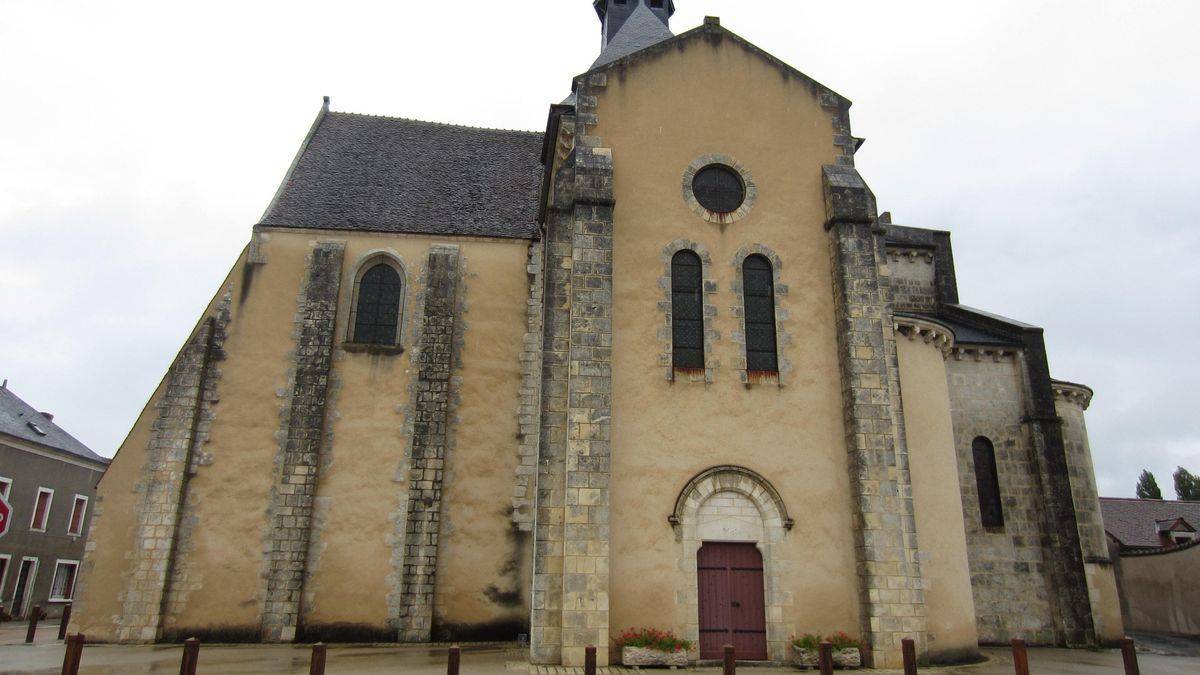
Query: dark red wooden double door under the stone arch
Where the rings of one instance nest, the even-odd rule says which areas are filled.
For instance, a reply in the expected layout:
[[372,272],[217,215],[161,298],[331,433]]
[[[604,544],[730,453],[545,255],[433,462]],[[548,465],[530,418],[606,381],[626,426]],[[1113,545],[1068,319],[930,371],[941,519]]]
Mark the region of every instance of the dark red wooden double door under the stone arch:
[[739,661],[766,661],[762,554],[754,544],[706,543],[697,563],[700,658],[721,658],[733,645]]

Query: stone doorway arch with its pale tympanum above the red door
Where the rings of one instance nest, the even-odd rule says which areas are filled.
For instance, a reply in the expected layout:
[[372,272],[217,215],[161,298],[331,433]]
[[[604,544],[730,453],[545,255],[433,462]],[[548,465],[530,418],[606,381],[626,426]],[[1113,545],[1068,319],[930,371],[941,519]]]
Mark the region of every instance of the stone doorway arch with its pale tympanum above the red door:
[[706,540],[752,543],[763,560],[767,652],[772,661],[786,661],[794,628],[786,620],[792,593],[784,584],[788,561],[780,543],[793,521],[775,488],[749,468],[715,466],[688,482],[670,522],[679,543],[676,609],[683,637],[700,644],[696,566],[701,545]]

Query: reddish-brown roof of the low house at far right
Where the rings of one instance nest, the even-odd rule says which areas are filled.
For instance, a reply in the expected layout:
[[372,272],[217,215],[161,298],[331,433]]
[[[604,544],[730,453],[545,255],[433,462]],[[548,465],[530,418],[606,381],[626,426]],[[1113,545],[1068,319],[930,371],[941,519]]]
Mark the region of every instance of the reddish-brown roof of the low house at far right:
[[1200,502],[1100,497],[1104,531],[1122,552],[1196,540]]

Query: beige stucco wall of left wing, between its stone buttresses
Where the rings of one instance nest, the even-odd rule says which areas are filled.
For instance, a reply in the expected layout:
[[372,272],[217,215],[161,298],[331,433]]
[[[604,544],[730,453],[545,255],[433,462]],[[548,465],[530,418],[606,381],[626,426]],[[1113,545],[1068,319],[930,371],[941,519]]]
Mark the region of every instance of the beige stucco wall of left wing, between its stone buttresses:
[[[228,298],[230,319],[220,364],[220,404],[212,408],[203,459],[188,478],[163,635],[211,634],[257,639],[263,589],[263,532],[280,426],[281,394],[294,348],[293,318],[306,255],[326,233],[260,232],[265,262],[245,257],[209,312]],[[408,271],[406,306],[419,301],[419,273],[430,238],[342,235],[347,244],[335,333],[347,335],[358,264],[388,255]],[[438,620],[486,631],[521,623],[530,558],[510,532],[505,508],[516,458],[520,369],[511,356],[524,333],[527,246],[500,240],[450,241],[468,261],[457,416],[469,420],[446,462],[445,565],[438,568]],[[486,280],[486,282],[485,282]],[[289,300],[282,300],[288,298]],[[282,300],[282,301],[281,301]],[[410,318],[410,317],[409,317]],[[410,325],[410,324],[409,324]],[[410,339],[403,340],[410,345]],[[499,354],[497,353],[499,352]],[[335,634],[389,634],[389,578],[396,574],[396,521],[406,504],[406,406],[412,366],[406,354],[336,350],[320,459],[305,623]],[[86,592],[76,614],[80,631],[118,639],[127,592],[124,552],[133,545],[134,513],[145,480],[145,452],[161,389],[134,425],[104,479],[98,543],[89,556]],[[120,543],[120,542],[126,543]],[[462,628],[460,628],[462,629]]]

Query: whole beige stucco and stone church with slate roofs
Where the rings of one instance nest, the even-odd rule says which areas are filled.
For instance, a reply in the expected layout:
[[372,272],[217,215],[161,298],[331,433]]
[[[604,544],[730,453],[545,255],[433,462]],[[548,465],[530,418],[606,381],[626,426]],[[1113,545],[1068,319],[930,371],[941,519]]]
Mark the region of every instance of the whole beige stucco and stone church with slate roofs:
[[564,665],[641,626],[876,667],[1120,638],[1092,392],[1042,329],[878,211],[847,98],[594,5],[544,132],[326,98],[100,483],[71,631]]

